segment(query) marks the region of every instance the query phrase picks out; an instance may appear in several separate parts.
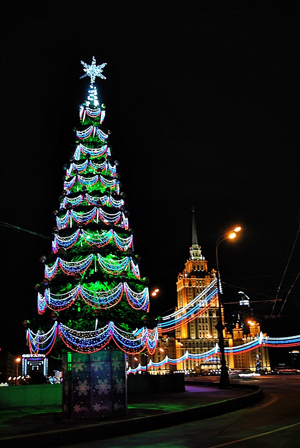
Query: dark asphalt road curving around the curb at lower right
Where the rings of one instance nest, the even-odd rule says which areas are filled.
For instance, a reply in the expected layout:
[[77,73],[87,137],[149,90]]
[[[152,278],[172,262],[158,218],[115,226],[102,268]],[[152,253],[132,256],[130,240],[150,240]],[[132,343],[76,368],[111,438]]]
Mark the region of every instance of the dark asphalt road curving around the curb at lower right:
[[[202,378],[199,378],[201,380]],[[203,380],[203,379],[202,379]],[[216,379],[210,379],[215,381]],[[300,376],[278,375],[233,382],[259,384],[264,398],[239,411],[158,431],[72,445],[73,448],[298,448]],[[197,378],[195,378],[195,383]],[[205,392],[204,392],[205,393]],[[151,430],[151,428],[149,428]],[[71,448],[71,446],[70,446]]]

